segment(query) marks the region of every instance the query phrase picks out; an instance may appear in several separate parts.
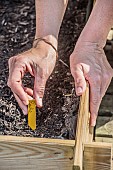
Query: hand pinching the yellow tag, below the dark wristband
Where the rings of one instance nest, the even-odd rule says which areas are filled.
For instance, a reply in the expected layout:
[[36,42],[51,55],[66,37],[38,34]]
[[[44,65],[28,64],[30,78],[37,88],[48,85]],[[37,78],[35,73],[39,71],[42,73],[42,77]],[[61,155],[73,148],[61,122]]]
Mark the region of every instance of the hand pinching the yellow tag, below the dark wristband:
[[[52,73],[56,63],[56,52],[51,45],[40,41],[37,48],[11,57],[9,59],[8,86],[24,114],[27,114],[28,100],[34,98],[37,107],[42,107],[42,98],[46,81]],[[34,89],[22,85],[24,74],[29,72],[35,77]]]

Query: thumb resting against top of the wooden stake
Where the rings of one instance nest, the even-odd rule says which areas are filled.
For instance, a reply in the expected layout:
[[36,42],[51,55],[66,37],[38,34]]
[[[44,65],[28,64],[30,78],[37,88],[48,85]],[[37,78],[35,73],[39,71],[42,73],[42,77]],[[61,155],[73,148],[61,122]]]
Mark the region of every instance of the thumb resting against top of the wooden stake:
[[81,65],[76,66],[74,71],[71,72],[75,80],[76,94],[80,96],[86,89],[86,80],[83,74],[82,66]]

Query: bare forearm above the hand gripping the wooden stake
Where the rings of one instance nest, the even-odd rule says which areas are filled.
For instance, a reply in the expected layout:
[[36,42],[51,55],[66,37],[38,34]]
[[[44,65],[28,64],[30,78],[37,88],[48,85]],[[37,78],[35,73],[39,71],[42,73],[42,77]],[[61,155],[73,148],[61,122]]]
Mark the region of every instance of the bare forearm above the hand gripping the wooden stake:
[[94,42],[104,47],[112,25],[113,0],[97,0],[78,42]]

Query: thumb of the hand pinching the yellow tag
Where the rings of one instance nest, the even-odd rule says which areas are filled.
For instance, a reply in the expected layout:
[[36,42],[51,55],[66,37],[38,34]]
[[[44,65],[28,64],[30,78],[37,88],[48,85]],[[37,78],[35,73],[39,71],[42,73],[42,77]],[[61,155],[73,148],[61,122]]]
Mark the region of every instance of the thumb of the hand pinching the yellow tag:
[[43,77],[35,76],[34,82],[34,98],[37,107],[42,107],[42,99],[44,96],[46,80]]

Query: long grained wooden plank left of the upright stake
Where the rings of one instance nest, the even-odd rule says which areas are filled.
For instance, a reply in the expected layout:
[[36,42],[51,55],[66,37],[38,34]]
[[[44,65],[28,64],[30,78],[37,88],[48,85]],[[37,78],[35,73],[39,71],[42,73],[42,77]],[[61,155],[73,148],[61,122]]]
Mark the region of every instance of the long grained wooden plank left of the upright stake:
[[0,170],[72,170],[73,141],[12,136],[0,139]]

